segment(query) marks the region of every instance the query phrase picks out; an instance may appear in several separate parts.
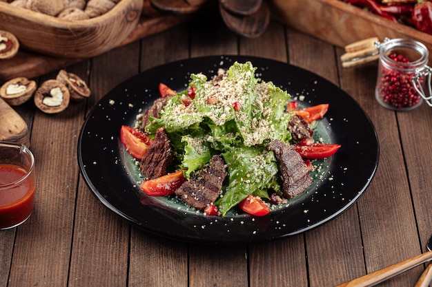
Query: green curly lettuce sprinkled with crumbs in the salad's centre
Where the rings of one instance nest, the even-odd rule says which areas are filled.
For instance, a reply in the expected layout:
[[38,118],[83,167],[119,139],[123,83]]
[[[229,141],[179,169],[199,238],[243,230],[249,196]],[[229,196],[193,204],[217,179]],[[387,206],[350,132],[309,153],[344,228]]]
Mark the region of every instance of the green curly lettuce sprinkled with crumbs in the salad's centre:
[[146,127],[150,134],[165,127],[186,178],[214,154],[223,156],[228,180],[215,202],[222,215],[250,194],[268,198],[269,189],[280,190],[275,156],[265,146],[276,139],[291,140],[291,114],[285,111],[291,96],[259,80],[255,71],[250,62],[236,62],[210,81],[204,74],[192,74],[188,87],[195,89],[195,98],[185,105],[181,99],[186,90],[169,98],[160,118],[152,118]]

